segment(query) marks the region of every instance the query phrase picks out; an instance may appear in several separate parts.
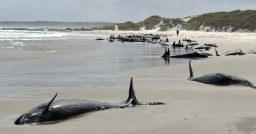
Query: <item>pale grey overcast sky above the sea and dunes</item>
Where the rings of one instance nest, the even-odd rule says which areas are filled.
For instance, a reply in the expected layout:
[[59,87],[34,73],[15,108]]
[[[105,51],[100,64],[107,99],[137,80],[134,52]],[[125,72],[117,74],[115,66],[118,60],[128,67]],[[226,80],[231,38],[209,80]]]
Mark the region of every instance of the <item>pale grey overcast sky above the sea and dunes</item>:
[[0,0],[0,21],[142,21],[256,9],[256,0]]

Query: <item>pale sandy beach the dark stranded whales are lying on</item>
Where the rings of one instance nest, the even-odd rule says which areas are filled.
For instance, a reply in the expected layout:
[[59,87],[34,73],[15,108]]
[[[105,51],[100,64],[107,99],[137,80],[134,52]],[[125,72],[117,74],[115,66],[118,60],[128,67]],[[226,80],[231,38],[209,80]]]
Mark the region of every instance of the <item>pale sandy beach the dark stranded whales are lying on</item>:
[[[241,49],[247,53],[256,50],[255,33],[224,33],[180,31],[90,31],[106,35],[123,33],[172,34],[170,42],[183,38],[197,40],[199,44],[216,43],[219,54]],[[104,52],[104,48],[88,50],[84,54],[82,46],[47,46],[56,53],[49,54],[13,54],[5,56],[2,63],[26,60],[28,62],[63,58],[81,58],[91,56],[92,51]],[[64,47],[64,48],[63,48]],[[74,48],[67,51],[65,48]],[[76,49],[75,49],[76,48]],[[59,49],[59,50],[58,50]],[[256,84],[256,55],[214,57],[204,60],[192,60],[195,77],[214,72],[226,72],[241,76]],[[24,53],[23,53],[24,54]],[[3,54],[5,55],[5,54]],[[6,60],[11,59],[11,60]],[[172,64],[172,63],[170,63]],[[49,92],[31,92],[20,94],[20,98],[0,100],[1,133],[256,133],[256,91],[241,85],[214,86],[187,80],[189,63],[158,68],[146,68],[127,71],[121,74],[116,86],[97,88],[63,88]],[[142,103],[162,102],[166,105],[143,105],[125,109],[108,109],[87,113],[86,115],[50,125],[14,125],[17,117],[41,103],[46,103],[58,92],[57,98],[88,98],[108,103],[119,103],[128,96],[129,78],[133,77],[133,86],[137,99]],[[31,97],[22,98],[24,97]],[[34,97],[34,98],[33,98]]]

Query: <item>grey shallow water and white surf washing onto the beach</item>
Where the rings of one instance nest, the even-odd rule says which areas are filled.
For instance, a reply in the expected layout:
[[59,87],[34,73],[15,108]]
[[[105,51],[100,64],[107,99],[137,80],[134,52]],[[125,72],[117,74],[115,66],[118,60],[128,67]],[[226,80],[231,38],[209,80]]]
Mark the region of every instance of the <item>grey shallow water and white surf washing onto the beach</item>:
[[[160,44],[94,40],[109,36],[95,31],[0,30],[0,98],[127,84],[117,80],[127,78],[128,71],[188,61],[160,58],[165,49]],[[170,52],[183,54],[185,50],[170,48]]]

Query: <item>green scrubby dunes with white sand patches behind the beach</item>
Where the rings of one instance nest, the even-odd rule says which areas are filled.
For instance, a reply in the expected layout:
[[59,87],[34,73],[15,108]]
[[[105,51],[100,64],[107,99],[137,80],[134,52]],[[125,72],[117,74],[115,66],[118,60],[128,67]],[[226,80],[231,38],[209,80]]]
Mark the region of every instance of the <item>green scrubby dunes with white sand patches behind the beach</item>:
[[[216,12],[205,13],[191,17],[188,21],[184,19],[164,18],[158,15],[148,17],[147,19],[140,21],[139,23],[133,23],[131,21],[125,23],[117,23],[119,30],[139,30],[141,27],[145,29],[155,29],[160,27],[160,31],[167,31],[174,27],[187,30],[204,30],[204,31],[256,31],[256,11],[230,11],[230,12]],[[115,25],[102,27],[100,29],[115,29]]]

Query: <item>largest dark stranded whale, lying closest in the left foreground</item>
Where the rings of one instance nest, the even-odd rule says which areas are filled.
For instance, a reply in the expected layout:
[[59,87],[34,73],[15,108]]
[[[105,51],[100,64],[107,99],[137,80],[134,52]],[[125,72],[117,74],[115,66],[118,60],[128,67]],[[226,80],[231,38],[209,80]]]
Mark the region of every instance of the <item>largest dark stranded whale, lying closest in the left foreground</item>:
[[[139,103],[133,90],[133,78],[131,78],[129,97],[123,103],[102,103],[96,100],[77,98],[63,98],[55,100],[57,94],[49,103],[43,103],[18,117],[15,125],[40,125],[57,123],[77,115],[104,109],[125,108],[128,105],[144,105]],[[164,103],[149,103],[148,105],[163,105]]]

